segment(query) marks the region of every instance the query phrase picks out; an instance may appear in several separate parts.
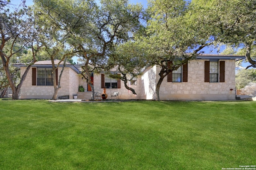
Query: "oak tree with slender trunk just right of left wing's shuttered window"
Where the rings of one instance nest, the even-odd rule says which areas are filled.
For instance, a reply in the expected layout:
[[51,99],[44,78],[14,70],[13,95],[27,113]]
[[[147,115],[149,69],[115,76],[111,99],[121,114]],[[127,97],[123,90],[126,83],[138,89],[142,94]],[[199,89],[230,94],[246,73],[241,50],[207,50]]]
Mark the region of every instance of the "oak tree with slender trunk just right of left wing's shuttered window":
[[[70,37],[72,37],[70,29],[78,27],[79,21],[78,18],[73,17],[73,14],[76,14],[75,12],[79,11],[82,15],[82,10],[84,8],[81,8],[83,5],[77,0],[35,0],[34,3],[35,17],[42,28],[40,32],[40,40],[44,45],[44,54],[52,61],[54,86],[52,99],[56,100],[58,91],[61,89],[60,80],[66,60],[75,55],[75,51],[73,50],[71,43],[69,43]],[[86,4],[86,2],[84,1],[83,4]],[[83,13],[86,15],[86,12]],[[55,62],[56,59],[60,60],[57,64]],[[63,65],[62,71],[59,76],[56,76],[60,64]],[[56,77],[58,77],[58,82]]]

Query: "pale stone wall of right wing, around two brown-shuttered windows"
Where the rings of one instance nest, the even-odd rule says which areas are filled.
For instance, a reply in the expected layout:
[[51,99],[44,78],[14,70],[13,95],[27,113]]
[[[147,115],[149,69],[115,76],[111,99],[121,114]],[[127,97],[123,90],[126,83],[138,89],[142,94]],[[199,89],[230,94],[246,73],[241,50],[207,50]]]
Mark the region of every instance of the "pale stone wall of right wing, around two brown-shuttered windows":
[[[235,61],[225,61],[225,82],[204,82],[204,61],[188,63],[188,82],[167,82],[164,78],[160,86],[161,100],[235,100]],[[160,68],[157,68],[160,71]],[[157,80],[159,75],[156,76]],[[230,90],[233,89],[233,90]]]

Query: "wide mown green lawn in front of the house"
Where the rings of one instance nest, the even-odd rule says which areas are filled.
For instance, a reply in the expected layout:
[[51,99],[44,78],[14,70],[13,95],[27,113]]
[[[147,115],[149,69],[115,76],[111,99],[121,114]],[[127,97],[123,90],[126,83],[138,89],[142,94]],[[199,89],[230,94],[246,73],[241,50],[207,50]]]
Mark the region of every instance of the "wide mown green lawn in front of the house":
[[0,169],[221,170],[256,164],[256,102],[0,100]]

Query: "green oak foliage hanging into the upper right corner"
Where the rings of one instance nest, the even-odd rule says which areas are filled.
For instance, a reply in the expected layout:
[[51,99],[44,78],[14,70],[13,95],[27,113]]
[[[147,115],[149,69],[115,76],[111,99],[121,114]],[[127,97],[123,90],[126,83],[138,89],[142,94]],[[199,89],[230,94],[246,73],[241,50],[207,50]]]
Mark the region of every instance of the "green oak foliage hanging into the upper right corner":
[[248,62],[256,65],[255,54],[251,53],[256,45],[256,1],[255,0],[192,0],[202,15],[199,22],[209,25],[212,37],[218,43],[244,48],[243,55]]

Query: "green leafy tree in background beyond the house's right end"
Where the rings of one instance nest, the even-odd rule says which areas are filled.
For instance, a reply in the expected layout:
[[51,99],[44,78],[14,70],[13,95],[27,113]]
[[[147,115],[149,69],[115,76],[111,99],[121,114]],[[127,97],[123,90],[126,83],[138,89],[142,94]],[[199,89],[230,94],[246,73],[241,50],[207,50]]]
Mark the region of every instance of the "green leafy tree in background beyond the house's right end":
[[249,83],[256,83],[256,69],[240,69],[236,74],[236,89],[243,89]]

